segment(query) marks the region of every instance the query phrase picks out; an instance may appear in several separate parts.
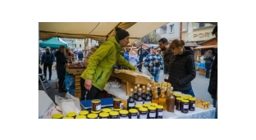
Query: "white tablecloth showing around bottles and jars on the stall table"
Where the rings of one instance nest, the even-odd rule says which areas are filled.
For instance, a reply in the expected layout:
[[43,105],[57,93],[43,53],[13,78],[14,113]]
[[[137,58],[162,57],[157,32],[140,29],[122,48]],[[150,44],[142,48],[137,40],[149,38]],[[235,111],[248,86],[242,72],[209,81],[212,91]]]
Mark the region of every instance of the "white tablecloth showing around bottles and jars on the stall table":
[[[127,100],[129,97],[126,96],[126,90],[122,88],[111,88],[108,93],[122,100]],[[195,111],[189,111],[186,114],[176,110],[174,113],[163,111],[163,120],[215,120],[215,108],[213,105],[208,110],[195,107]]]

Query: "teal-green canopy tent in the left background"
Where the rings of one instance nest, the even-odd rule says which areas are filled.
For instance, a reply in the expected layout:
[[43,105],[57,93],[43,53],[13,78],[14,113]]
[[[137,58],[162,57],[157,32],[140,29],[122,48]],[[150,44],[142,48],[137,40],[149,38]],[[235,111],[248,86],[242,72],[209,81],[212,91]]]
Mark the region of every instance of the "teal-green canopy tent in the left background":
[[60,46],[67,47],[66,43],[62,43],[61,41],[57,40],[57,38],[50,38],[42,43],[39,43],[39,47],[52,47],[58,48]]

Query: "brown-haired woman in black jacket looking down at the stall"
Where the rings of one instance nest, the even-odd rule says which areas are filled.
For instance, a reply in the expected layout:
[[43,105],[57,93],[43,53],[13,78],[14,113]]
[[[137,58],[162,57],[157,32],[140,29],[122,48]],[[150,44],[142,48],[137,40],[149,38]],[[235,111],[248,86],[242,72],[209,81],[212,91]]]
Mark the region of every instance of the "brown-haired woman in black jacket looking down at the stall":
[[194,51],[185,50],[185,42],[175,39],[169,49],[173,52],[169,62],[169,79],[174,91],[190,94],[194,97],[191,81],[195,78]]

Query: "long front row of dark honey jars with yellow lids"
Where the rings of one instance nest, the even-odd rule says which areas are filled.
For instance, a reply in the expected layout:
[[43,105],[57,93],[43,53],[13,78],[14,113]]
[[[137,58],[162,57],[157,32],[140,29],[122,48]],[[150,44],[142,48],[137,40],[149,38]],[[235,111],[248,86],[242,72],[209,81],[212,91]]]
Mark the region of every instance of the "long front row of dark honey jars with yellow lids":
[[136,105],[135,109],[129,111],[112,111],[110,108],[104,108],[102,111],[80,111],[79,115],[75,112],[52,115],[53,120],[162,120],[163,106],[156,103]]

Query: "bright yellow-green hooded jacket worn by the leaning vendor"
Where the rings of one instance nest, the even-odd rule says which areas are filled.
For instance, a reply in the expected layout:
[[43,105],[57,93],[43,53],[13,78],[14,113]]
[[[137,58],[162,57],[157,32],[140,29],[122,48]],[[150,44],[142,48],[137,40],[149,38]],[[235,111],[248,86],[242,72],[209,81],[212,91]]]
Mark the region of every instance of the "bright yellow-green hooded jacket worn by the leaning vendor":
[[117,43],[115,36],[109,38],[98,47],[93,55],[89,56],[89,64],[81,77],[92,79],[93,86],[102,91],[112,74],[115,64],[130,70],[136,70],[135,66],[130,65],[129,61],[126,61],[125,57],[120,55],[120,52],[121,44]]

